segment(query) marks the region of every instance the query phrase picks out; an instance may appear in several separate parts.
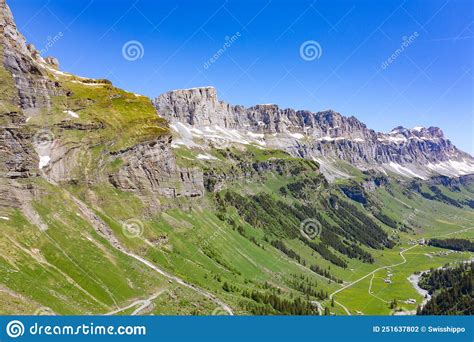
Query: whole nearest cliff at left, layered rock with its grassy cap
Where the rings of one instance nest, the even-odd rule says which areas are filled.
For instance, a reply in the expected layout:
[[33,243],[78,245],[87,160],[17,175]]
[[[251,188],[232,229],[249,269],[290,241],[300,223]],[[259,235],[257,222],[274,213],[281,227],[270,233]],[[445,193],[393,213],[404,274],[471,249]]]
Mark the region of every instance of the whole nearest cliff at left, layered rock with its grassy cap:
[[147,98],[59,71],[27,45],[5,0],[0,31],[0,192],[19,187],[9,180],[42,175],[58,185],[202,196],[202,172],[178,168],[167,123]]

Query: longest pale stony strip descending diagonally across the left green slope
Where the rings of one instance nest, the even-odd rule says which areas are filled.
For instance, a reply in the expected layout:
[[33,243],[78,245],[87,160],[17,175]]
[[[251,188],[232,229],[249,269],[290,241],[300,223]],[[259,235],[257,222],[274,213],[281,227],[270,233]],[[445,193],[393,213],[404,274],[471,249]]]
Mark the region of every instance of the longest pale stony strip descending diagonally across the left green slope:
[[[71,193],[69,193],[69,196],[71,196],[71,199],[77,205],[78,209],[81,211],[81,213],[84,215],[84,217],[87,218],[87,220],[90,222],[92,227],[94,227],[94,229],[97,231],[97,233],[99,233],[101,236],[103,236],[115,249],[117,249],[118,251],[122,252],[125,255],[128,255],[129,257],[134,258],[135,260],[138,260],[140,263],[142,263],[145,266],[151,268],[152,270],[154,270],[155,272],[161,274],[162,276],[164,276],[164,277],[166,277],[170,280],[173,280],[173,281],[177,282],[178,284],[183,285],[183,286],[199,293],[200,295],[210,299],[211,301],[213,301],[214,303],[219,305],[229,315],[234,314],[232,309],[230,308],[230,306],[225,304],[223,301],[221,301],[219,298],[217,298],[216,296],[214,296],[210,292],[207,292],[206,290],[203,290],[203,289],[201,289],[200,287],[198,287],[196,285],[190,284],[190,283],[186,282],[185,280],[183,280],[183,279],[181,279],[181,278],[179,278],[175,275],[172,275],[172,274],[166,272],[165,270],[159,268],[158,266],[156,266],[152,262],[146,260],[145,258],[142,258],[141,256],[136,255],[136,254],[128,251],[125,247],[123,247],[122,244],[120,244],[120,242],[115,237],[115,235],[114,235],[113,231],[110,229],[110,227],[99,216],[97,216],[84,202],[82,202],[81,200],[79,200],[78,198],[73,196]],[[140,303],[143,303],[143,301],[141,301]]]

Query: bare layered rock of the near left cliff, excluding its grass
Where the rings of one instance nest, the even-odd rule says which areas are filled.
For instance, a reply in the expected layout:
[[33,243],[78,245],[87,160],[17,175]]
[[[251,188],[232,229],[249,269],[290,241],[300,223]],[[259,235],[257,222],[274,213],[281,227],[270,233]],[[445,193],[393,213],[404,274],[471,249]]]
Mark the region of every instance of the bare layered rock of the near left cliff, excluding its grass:
[[[56,58],[43,59],[33,45],[26,43],[5,0],[0,0],[0,31],[0,76],[3,77],[2,86],[8,86],[8,91],[0,89],[0,193],[17,189],[12,185],[15,178],[42,175],[53,184],[108,181],[123,190],[166,197],[203,195],[202,172],[177,167],[170,135],[114,154],[104,151],[101,156],[104,165],[117,158],[123,161],[120,169],[111,174],[105,168],[89,170],[81,164],[88,160],[90,146],[61,139],[61,132],[66,130],[98,132],[103,128],[100,124],[69,124],[65,121],[57,125],[54,140],[39,148],[41,144],[36,140],[41,131],[31,131],[27,121],[36,115],[48,115],[51,97],[66,94],[60,79],[55,76],[65,74],[58,70]],[[40,170],[41,158],[47,162]],[[79,169],[84,172],[77,172]],[[11,199],[7,202],[18,201]]]

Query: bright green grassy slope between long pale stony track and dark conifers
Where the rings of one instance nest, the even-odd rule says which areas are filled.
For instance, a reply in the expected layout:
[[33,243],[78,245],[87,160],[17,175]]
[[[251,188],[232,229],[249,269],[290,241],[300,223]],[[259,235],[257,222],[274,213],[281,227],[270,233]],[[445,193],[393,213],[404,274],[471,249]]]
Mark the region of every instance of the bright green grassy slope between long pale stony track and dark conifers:
[[[308,269],[293,263],[268,243],[264,243],[261,232],[240,222],[249,235],[262,242],[264,248],[242,237],[205,207],[203,205],[202,208],[193,208],[191,211],[168,210],[142,220],[145,229],[139,239],[125,237],[120,233],[120,224],[111,215],[104,215],[129,248],[139,251],[173,274],[211,290],[236,309],[237,313],[246,313],[240,304],[244,299],[239,293],[224,291],[225,282],[240,290],[262,288],[265,282],[269,282],[281,287],[289,296],[290,293],[296,295],[296,291],[290,289],[286,282],[293,275],[306,275],[318,281],[320,288],[325,291],[334,288],[334,285],[326,284]],[[108,208],[108,205],[104,208]],[[108,210],[105,209],[104,212]],[[123,218],[137,215],[136,211],[127,215],[125,208],[121,208],[121,212]],[[143,242],[143,239],[153,241],[159,236],[165,236],[166,242],[157,246],[147,246]],[[203,249],[213,251],[213,255],[206,255]]]

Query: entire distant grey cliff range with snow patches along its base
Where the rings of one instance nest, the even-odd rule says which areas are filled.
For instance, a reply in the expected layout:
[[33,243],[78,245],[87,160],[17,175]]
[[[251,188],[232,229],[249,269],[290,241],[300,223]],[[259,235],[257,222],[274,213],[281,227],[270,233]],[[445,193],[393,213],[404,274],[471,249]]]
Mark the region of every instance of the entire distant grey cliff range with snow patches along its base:
[[196,146],[198,140],[207,139],[226,145],[226,140],[241,140],[303,158],[342,159],[361,169],[381,168],[411,177],[474,172],[473,158],[458,150],[437,127],[397,127],[378,133],[353,116],[331,110],[313,113],[274,104],[232,106],[219,101],[212,87],[171,91],[157,97],[154,105],[175,123],[172,127],[182,144]]

